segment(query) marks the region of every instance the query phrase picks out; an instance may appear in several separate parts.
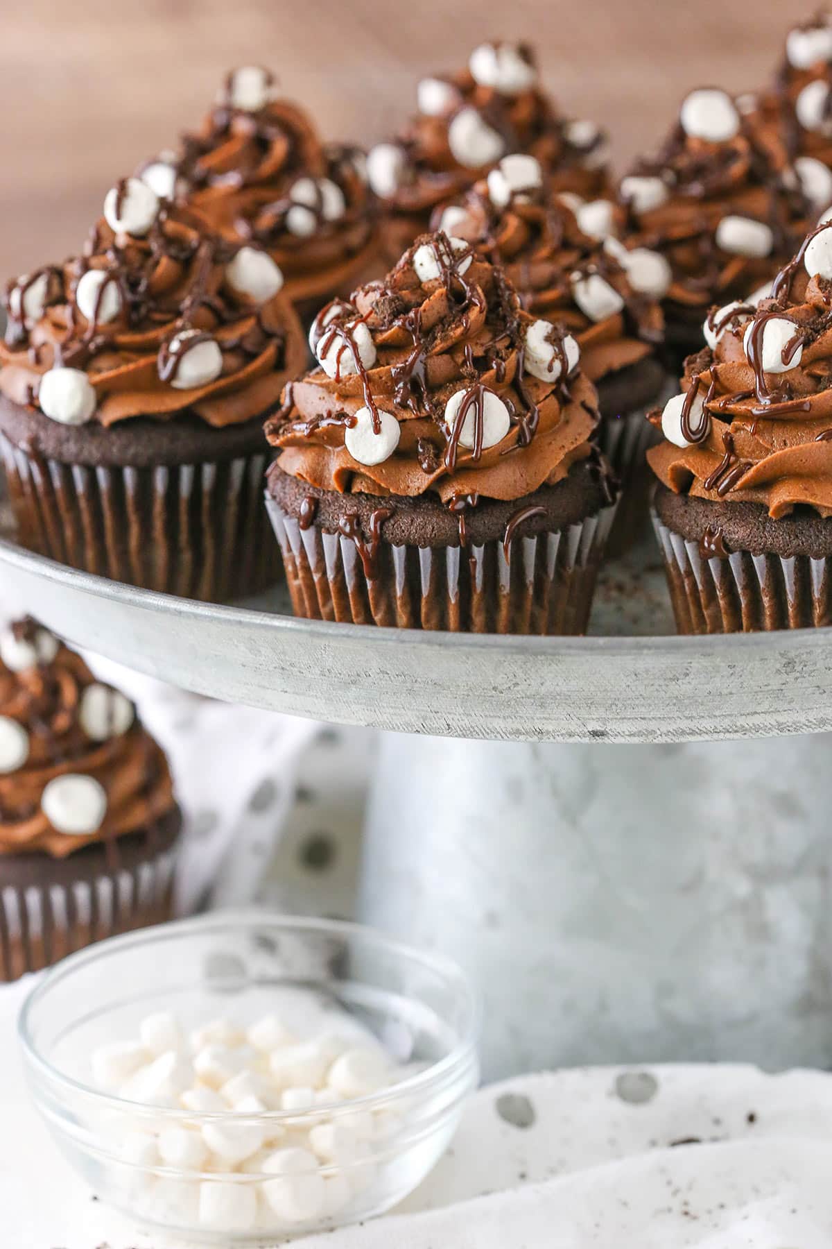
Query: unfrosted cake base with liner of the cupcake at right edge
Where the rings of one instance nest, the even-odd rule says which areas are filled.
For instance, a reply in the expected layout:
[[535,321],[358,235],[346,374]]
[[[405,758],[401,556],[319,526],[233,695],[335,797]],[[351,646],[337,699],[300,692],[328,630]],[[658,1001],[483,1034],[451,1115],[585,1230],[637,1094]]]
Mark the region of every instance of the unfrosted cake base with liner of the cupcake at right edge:
[[657,486],[654,525],[680,633],[832,624],[832,520],[773,521],[758,503],[717,503]]

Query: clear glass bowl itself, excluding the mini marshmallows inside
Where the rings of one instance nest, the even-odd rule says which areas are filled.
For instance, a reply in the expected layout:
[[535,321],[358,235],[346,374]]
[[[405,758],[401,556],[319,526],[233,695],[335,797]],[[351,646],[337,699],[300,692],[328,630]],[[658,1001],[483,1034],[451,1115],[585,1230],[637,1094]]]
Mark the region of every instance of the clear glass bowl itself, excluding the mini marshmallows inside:
[[[259,1114],[143,1105],[91,1084],[95,1047],[136,1038],[153,1012],[172,1010],[185,1027],[216,1015],[244,1027],[269,1012],[291,1015],[298,1003],[312,1003],[333,1030],[347,1020],[372,1033],[407,1067],[402,1082],[352,1102]],[[20,1037],[37,1108],[100,1199],[145,1227],[228,1245],[365,1219],[410,1193],[476,1085],[476,1022],[473,992],[450,960],[356,924],[226,913],[71,955],[26,1000]],[[217,1120],[286,1143],[318,1123],[341,1124],[362,1147],[298,1180],[258,1170],[258,1155],[227,1170],[182,1170],[157,1155],[148,1164],[135,1144]]]

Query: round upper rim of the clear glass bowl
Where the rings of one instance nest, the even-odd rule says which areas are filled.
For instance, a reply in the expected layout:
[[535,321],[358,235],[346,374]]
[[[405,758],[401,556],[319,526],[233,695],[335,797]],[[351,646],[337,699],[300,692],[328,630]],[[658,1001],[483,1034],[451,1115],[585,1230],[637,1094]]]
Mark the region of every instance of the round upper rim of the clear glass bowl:
[[[92,1084],[67,1075],[55,1067],[37,1048],[31,1033],[31,1014],[41,1003],[50,989],[61,980],[72,975],[77,969],[92,963],[116,957],[121,950],[141,945],[152,945],[157,942],[173,938],[187,938],[188,933],[210,933],[233,928],[262,928],[272,926],[284,931],[301,931],[306,933],[332,934],[344,938],[358,937],[380,947],[385,953],[422,967],[438,974],[447,982],[455,982],[453,992],[457,998],[462,997],[465,1007],[465,1028],[462,1030],[453,1048],[438,1062],[432,1063],[422,1072],[409,1075],[398,1084],[388,1085],[377,1093],[369,1093],[360,1098],[332,1102],[326,1105],[307,1107],[303,1110],[261,1110],[257,1113],[241,1110],[215,1110],[193,1112],[180,1107],[153,1105],[145,1102],[131,1102],[117,1097],[104,1089],[97,1089]],[[454,1074],[462,1075],[469,1067],[478,1065],[476,1035],[481,1017],[481,1003],[476,992],[463,970],[463,968],[445,954],[433,950],[424,950],[415,945],[388,937],[387,933],[372,928],[367,924],[354,923],[348,919],[326,919],[314,916],[291,916],[283,912],[269,912],[246,909],[242,911],[217,911],[206,916],[191,916],[185,919],[175,919],[163,924],[155,924],[150,928],[140,928],[131,933],[122,933],[117,937],[109,937],[95,942],[84,949],[69,954],[66,958],[51,967],[39,979],[37,984],[30,989],[17,1015],[17,1038],[22,1047],[25,1059],[37,1073],[60,1089],[67,1093],[82,1094],[95,1100],[100,1105],[106,1105],[112,1110],[123,1114],[136,1115],[137,1112],[152,1113],[153,1118],[170,1119],[176,1123],[187,1120],[190,1123],[235,1122],[244,1120],[281,1123],[292,1120],[293,1123],[304,1119],[318,1119],[344,1114],[349,1110],[368,1110],[389,1107],[399,1098],[412,1098],[424,1089],[430,1089],[435,1084],[442,1084],[445,1078]]]

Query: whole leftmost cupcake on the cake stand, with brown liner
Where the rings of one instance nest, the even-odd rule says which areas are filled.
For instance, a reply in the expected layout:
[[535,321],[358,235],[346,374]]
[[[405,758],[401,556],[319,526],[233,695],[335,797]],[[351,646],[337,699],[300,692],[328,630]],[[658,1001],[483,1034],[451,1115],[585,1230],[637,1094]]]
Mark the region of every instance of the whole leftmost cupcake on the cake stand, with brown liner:
[[282,281],[127,179],[81,257],[11,284],[0,451],[26,546],[191,598],[276,578],[262,423],[306,361]]

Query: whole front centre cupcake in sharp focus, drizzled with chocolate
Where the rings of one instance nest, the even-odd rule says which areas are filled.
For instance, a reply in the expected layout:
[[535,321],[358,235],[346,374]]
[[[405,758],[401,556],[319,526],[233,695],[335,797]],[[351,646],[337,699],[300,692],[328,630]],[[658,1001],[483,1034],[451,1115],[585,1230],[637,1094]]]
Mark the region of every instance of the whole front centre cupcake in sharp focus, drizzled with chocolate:
[[586,627],[614,487],[580,348],[443,232],[313,326],[267,426],[298,616],[501,633]]

